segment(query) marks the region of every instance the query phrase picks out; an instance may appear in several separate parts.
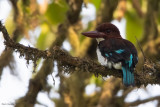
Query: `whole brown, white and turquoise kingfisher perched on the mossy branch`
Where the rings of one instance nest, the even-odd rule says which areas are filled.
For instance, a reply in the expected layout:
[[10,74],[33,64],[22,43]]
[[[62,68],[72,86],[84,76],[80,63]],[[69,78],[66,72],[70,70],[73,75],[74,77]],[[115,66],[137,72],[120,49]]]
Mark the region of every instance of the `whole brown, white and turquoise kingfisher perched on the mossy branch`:
[[97,57],[101,65],[121,70],[125,86],[135,85],[134,69],[138,63],[137,50],[130,41],[121,37],[115,25],[103,23],[95,31],[83,32],[82,35],[96,38]]

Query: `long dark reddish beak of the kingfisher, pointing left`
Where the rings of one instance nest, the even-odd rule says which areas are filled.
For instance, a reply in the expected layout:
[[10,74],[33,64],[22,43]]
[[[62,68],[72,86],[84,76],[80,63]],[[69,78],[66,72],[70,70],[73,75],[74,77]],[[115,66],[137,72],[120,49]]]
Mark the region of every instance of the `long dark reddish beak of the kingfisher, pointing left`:
[[105,36],[104,33],[98,31],[83,32],[82,35],[91,38],[103,38]]

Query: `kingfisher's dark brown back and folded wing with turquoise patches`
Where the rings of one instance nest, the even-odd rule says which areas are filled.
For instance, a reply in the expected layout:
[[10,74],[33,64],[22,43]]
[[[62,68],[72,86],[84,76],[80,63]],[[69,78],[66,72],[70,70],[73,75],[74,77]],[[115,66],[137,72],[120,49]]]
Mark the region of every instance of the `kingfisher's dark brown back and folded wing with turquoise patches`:
[[[128,43],[128,44],[127,44]],[[134,45],[124,39],[109,39],[101,42],[98,47],[102,56],[114,63],[125,62],[130,60],[130,55],[133,56],[133,63],[137,63],[137,51]]]

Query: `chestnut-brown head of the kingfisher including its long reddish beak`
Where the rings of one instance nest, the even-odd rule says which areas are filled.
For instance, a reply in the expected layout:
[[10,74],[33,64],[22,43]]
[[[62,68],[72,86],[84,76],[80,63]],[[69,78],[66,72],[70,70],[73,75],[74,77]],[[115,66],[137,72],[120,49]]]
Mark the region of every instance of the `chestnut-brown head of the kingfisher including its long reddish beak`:
[[109,38],[122,38],[118,28],[111,23],[103,23],[95,31],[83,32],[82,35],[96,38],[98,42]]

